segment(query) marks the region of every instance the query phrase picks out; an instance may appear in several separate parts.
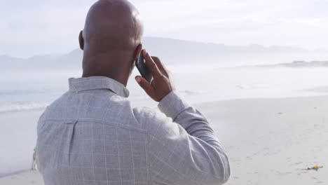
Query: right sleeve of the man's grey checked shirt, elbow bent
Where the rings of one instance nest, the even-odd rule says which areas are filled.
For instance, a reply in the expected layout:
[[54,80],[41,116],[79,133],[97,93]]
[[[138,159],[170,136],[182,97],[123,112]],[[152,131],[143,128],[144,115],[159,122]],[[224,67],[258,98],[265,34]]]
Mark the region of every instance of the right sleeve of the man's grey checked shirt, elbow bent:
[[228,157],[205,116],[175,92],[148,119],[148,162],[153,184],[224,184]]

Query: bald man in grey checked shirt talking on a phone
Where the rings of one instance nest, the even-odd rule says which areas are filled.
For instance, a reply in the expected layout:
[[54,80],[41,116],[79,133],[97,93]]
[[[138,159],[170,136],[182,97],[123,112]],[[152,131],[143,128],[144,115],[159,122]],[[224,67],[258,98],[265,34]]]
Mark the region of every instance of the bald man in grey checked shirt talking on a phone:
[[[207,119],[175,92],[158,57],[142,50],[143,26],[125,0],[100,0],[79,41],[83,76],[39,119],[38,168],[46,185],[224,184],[230,165]],[[133,108],[125,88],[143,52],[153,75],[136,81],[158,108]]]

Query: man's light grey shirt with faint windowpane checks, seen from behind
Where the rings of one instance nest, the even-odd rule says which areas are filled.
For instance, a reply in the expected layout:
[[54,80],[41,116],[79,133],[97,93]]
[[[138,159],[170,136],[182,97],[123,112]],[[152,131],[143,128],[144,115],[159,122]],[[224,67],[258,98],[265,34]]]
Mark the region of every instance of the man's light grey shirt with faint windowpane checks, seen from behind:
[[46,185],[224,184],[228,157],[210,124],[175,92],[158,110],[132,108],[111,78],[70,78],[39,119]]

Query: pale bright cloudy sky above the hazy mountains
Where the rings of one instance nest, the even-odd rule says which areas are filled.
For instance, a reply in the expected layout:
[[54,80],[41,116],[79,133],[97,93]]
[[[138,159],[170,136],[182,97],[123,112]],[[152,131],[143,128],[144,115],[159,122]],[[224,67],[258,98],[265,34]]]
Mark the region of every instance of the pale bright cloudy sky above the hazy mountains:
[[[246,46],[328,50],[328,0],[131,0],[144,36]],[[78,48],[95,0],[0,0],[0,55],[31,57]]]

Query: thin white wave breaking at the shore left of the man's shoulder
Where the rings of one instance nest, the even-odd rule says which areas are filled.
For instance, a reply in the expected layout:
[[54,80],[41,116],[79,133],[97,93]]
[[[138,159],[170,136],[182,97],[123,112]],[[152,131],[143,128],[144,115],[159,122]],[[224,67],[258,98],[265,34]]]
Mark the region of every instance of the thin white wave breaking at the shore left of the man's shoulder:
[[46,102],[12,102],[9,104],[0,104],[0,113],[45,109],[48,105],[49,103]]

